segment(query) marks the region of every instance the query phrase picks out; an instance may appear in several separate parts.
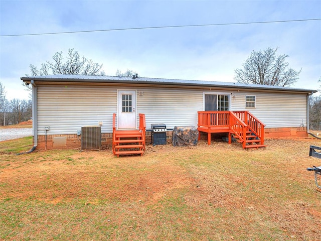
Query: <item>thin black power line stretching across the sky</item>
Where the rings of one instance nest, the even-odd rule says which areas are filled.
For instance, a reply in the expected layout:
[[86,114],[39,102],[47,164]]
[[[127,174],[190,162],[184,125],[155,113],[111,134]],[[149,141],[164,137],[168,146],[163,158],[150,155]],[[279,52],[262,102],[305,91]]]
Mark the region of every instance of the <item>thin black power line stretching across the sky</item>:
[[53,32],[53,33],[37,33],[37,34],[11,34],[11,35],[0,35],[0,37],[17,37],[17,36],[34,36],[34,35],[53,35],[53,34],[75,34],[75,33],[124,31],[124,30],[138,30],[138,29],[166,29],[166,28],[207,27],[207,26],[224,26],[224,25],[271,24],[271,23],[289,23],[289,22],[304,22],[304,21],[316,21],[316,20],[321,20],[321,19],[299,19],[299,20],[282,20],[282,21],[266,21],[266,22],[245,22],[245,23],[223,23],[223,24],[173,25],[173,26],[155,26],[155,27],[123,28],[123,29],[102,29],[102,30],[85,30],[85,31]]

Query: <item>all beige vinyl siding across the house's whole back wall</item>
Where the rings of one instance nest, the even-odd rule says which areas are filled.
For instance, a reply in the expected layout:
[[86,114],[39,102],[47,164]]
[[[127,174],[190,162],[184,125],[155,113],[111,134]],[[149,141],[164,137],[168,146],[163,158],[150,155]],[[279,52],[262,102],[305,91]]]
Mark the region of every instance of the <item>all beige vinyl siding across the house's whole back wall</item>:
[[[103,122],[102,133],[112,132],[112,114],[117,113],[117,90],[136,90],[136,114],[144,113],[146,128],[152,123],[197,126],[197,111],[203,110],[204,92],[230,95],[230,110],[248,110],[266,128],[306,126],[306,95],[254,91],[202,90],[166,87],[38,85],[38,135],[76,134],[83,126]],[[231,93],[233,93],[231,95]],[[235,95],[235,96],[233,96]],[[256,96],[256,107],[246,108],[246,95]]]

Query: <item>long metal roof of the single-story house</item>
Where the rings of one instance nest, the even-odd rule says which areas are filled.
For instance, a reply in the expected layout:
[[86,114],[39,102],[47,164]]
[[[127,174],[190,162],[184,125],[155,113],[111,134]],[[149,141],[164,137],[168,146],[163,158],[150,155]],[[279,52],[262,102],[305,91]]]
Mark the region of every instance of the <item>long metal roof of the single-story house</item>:
[[121,77],[121,76],[97,76],[97,75],[45,75],[21,77],[23,81],[48,81],[48,82],[86,82],[86,83],[132,83],[132,84],[166,84],[166,85],[188,85],[188,86],[204,86],[204,87],[228,87],[228,88],[245,88],[245,89],[262,89],[262,90],[278,90],[293,92],[317,92],[313,89],[302,89],[292,87],[281,87],[273,85],[260,84],[242,84],[234,82],[218,82],[204,80],[183,80],[183,79],[162,79],[162,78],[145,78],[145,77]]

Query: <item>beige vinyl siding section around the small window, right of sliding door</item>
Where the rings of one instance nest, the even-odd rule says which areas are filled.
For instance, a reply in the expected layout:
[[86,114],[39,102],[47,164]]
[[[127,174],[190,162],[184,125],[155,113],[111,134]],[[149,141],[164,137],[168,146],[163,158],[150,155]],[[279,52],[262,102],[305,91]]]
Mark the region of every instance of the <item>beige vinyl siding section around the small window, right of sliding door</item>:
[[[255,96],[255,108],[246,108],[246,95]],[[248,110],[266,128],[306,127],[306,95],[295,93],[235,92],[233,110]]]

